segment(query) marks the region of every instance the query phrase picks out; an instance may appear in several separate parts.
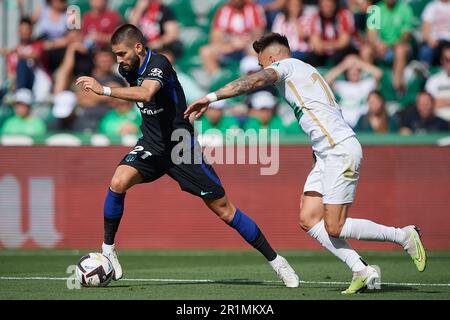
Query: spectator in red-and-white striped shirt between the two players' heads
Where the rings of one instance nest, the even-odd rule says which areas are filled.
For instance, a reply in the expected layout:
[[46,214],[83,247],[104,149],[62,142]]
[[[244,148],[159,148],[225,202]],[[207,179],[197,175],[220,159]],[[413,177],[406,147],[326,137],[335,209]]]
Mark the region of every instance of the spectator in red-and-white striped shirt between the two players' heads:
[[215,16],[210,43],[200,49],[205,69],[214,74],[220,64],[252,54],[251,44],[264,34],[266,18],[261,6],[245,0],[229,0]]

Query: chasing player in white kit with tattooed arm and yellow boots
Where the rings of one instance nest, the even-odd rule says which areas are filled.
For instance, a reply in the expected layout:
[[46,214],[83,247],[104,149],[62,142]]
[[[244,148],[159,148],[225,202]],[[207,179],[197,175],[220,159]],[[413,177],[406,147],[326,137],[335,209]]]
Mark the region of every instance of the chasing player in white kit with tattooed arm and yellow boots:
[[253,48],[264,69],[198,99],[188,107],[185,117],[195,120],[211,102],[276,85],[311,138],[316,159],[303,189],[300,226],[352,270],[351,284],[342,293],[374,289],[380,282],[378,271],[346,239],[397,243],[408,252],[417,269],[424,271],[426,253],[416,226],[387,227],[347,217],[359,179],[362,149],[319,72],[291,58],[288,40],[280,34],[263,36],[253,43]]

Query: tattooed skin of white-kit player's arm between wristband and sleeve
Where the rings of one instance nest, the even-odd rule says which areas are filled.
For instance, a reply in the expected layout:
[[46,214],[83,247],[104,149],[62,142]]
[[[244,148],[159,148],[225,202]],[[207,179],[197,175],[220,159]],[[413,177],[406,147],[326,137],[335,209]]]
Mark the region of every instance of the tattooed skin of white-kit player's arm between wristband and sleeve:
[[277,80],[278,74],[274,69],[263,69],[259,72],[234,80],[217,90],[215,93],[219,100],[227,99],[272,85]]

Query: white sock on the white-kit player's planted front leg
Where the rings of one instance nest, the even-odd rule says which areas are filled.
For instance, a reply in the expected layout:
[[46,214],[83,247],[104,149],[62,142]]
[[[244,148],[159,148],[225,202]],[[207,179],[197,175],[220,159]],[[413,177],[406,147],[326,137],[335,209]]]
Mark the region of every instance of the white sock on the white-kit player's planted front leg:
[[361,256],[343,239],[328,235],[323,219],[307,232],[311,237],[320,242],[328,251],[345,262],[353,272],[363,270],[366,265]]

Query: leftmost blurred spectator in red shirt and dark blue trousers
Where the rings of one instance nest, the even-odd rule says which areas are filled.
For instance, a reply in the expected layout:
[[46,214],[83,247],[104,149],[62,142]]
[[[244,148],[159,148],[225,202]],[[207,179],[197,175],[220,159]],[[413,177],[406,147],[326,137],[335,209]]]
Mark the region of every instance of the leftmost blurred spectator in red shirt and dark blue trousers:
[[23,17],[19,23],[19,44],[10,50],[0,49],[6,55],[8,78],[16,81],[16,89],[32,90],[35,69],[45,70],[44,42],[32,38],[33,25],[31,19]]

